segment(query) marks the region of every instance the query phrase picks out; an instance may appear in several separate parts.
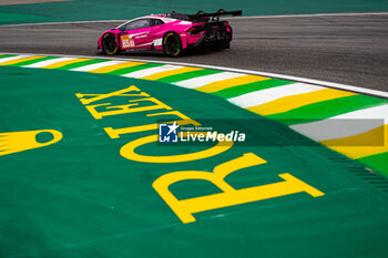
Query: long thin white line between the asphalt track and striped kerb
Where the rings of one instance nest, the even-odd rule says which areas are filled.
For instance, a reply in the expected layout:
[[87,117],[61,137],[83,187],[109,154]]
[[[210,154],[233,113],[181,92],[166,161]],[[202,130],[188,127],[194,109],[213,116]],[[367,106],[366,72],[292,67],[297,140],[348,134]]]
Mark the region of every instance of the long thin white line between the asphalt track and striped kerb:
[[[1,54],[39,55],[37,53],[10,53],[10,52],[1,52]],[[328,86],[328,87],[334,87],[334,89],[339,89],[339,90],[350,91],[350,92],[365,93],[365,94],[369,94],[369,95],[381,96],[381,97],[388,99],[388,92],[385,92],[385,91],[370,90],[370,89],[365,89],[365,87],[360,87],[360,86],[353,86],[353,85],[347,85],[347,84],[341,84],[341,83],[325,82],[325,81],[319,81],[319,80],[314,80],[314,79],[298,78],[298,76],[285,75],[285,74],[279,74],[279,73],[259,72],[259,71],[245,70],[245,69],[233,69],[233,68],[225,68],[225,66],[217,66],[217,65],[196,64],[196,63],[154,61],[154,60],[146,60],[146,59],[120,59],[120,58],[71,55],[71,54],[44,54],[44,55],[62,56],[62,58],[120,60],[120,61],[126,61],[126,62],[163,63],[163,64],[183,65],[183,66],[192,66],[192,68],[214,69],[214,70],[228,71],[228,72],[248,73],[248,74],[288,80],[288,81],[295,81],[295,82],[304,82],[304,83],[309,83],[309,84]]]

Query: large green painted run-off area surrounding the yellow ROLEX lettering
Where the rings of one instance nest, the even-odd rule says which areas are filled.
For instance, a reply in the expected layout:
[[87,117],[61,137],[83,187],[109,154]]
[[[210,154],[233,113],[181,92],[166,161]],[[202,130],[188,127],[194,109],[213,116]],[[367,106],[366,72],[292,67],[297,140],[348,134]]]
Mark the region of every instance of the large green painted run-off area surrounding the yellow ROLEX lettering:
[[[96,120],[75,93],[105,94],[130,85],[193,120],[252,118],[249,125],[231,126],[239,132],[256,132],[263,144],[235,145],[221,154],[182,163],[125,158],[121,155],[124,145],[156,134],[156,130],[111,138],[104,128],[147,125],[176,116],[147,116],[166,112],[149,110]],[[92,104],[123,105],[133,101],[137,104],[134,107],[150,105],[125,94],[130,93]],[[63,136],[44,147],[0,156],[0,257],[387,255],[388,199],[384,188],[371,182],[380,177],[285,125],[263,123],[266,118],[218,96],[106,74],[0,68],[0,109],[3,135],[54,130]],[[102,111],[104,106],[96,109]],[[51,140],[43,135],[37,141]],[[7,144],[2,141],[2,146]],[[208,147],[150,143],[135,152],[183,155]],[[169,173],[212,173],[217,165],[247,153],[266,163],[229,174],[225,182],[236,192],[282,183],[279,175],[289,173],[324,195],[285,194],[196,213],[196,221],[183,224],[152,186]],[[171,185],[170,190],[180,200],[222,193],[206,180],[182,180]]]

